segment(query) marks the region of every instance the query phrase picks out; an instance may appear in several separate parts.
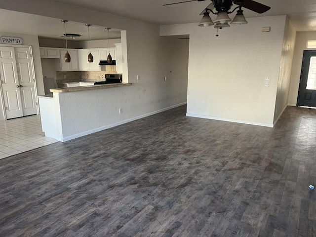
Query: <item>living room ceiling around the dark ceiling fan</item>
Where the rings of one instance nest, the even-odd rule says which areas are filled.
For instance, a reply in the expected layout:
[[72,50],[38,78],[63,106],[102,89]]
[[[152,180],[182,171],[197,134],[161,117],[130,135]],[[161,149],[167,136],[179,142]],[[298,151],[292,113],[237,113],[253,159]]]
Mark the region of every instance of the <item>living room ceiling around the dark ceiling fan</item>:
[[[199,13],[211,1],[191,1],[162,6],[184,0],[54,0],[66,4],[138,19],[158,25],[199,22]],[[288,15],[297,31],[316,31],[316,0],[257,0],[271,6],[263,14],[244,9],[246,19],[259,16]]]

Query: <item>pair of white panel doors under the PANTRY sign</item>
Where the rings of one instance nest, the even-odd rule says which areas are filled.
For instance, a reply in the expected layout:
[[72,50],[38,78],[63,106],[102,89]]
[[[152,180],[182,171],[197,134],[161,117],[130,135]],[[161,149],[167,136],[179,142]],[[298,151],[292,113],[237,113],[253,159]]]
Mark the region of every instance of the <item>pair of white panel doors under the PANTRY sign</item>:
[[37,114],[29,47],[0,47],[0,79],[6,118]]

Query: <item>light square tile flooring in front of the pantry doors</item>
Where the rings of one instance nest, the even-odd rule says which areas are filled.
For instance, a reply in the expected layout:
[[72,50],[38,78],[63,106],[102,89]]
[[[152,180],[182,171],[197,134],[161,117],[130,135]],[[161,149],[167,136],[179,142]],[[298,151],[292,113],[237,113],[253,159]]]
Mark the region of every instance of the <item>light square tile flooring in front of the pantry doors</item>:
[[55,142],[41,131],[40,115],[0,121],[0,159]]

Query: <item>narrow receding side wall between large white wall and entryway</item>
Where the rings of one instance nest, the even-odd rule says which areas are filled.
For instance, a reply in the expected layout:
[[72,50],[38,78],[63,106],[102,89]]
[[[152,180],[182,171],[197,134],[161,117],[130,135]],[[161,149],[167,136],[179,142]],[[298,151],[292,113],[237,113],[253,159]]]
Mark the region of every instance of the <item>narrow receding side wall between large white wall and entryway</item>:
[[274,123],[282,115],[282,112],[285,110],[288,103],[295,38],[296,31],[287,17],[284,30],[280,71],[277,83]]

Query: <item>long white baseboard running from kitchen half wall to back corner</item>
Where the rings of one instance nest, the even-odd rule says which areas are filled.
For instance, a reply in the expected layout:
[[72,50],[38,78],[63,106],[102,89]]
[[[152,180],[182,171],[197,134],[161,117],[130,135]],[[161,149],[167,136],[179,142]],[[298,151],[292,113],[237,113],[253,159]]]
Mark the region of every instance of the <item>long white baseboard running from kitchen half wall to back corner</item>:
[[82,137],[82,136],[85,136],[85,135],[89,135],[91,133],[99,132],[99,131],[102,131],[102,130],[105,130],[105,129],[108,129],[108,128],[111,128],[111,127],[115,127],[115,126],[118,126],[118,125],[121,125],[121,124],[124,124],[124,123],[127,123],[127,122],[131,122],[131,121],[140,119],[140,118],[145,118],[145,117],[148,117],[148,116],[151,116],[151,115],[155,115],[155,114],[158,114],[160,112],[167,111],[167,110],[170,110],[170,109],[182,106],[182,105],[186,105],[186,104],[187,104],[187,102],[183,102],[183,103],[180,103],[180,104],[177,104],[177,105],[173,105],[173,106],[169,106],[169,107],[166,107],[166,108],[163,108],[163,109],[160,109],[160,110],[157,110],[157,111],[153,111],[153,112],[150,112],[150,113],[147,113],[147,114],[144,114],[144,115],[136,116],[134,118],[128,118],[128,119],[125,119],[125,120],[122,120],[122,121],[119,121],[119,122],[116,122],[116,123],[112,123],[112,124],[109,124],[109,125],[106,125],[106,126],[98,127],[98,128],[95,128],[95,129],[91,129],[91,130],[85,131],[85,132],[80,132],[80,133],[77,133],[77,134],[74,134],[74,135],[71,135],[71,136],[59,137],[59,138],[57,138],[57,140],[60,141],[60,142],[67,142],[67,141],[75,139],[75,138],[79,138],[79,137]]

